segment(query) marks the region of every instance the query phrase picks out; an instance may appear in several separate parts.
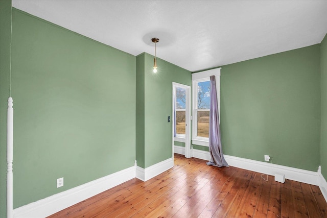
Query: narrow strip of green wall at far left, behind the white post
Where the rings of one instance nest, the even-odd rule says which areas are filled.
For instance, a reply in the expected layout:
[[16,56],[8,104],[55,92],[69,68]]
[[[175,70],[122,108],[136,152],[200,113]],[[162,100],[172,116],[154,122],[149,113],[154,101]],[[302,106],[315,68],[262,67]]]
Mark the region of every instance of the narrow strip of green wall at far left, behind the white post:
[[7,205],[7,100],[10,96],[11,0],[0,1],[0,217]]

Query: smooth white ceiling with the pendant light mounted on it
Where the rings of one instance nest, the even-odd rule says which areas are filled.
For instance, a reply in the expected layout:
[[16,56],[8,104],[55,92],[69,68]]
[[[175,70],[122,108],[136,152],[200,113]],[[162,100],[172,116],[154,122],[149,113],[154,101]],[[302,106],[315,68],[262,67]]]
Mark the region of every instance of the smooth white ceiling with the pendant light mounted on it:
[[[327,1],[13,0],[12,5],[132,55],[191,71],[320,43]],[[159,66],[158,66],[159,67]]]

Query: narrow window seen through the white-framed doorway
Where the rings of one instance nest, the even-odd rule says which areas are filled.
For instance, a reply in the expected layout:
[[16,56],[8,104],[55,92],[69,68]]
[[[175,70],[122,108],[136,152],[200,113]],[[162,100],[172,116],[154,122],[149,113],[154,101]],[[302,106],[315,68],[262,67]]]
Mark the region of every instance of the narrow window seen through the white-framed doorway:
[[186,89],[176,87],[176,135],[185,137]]

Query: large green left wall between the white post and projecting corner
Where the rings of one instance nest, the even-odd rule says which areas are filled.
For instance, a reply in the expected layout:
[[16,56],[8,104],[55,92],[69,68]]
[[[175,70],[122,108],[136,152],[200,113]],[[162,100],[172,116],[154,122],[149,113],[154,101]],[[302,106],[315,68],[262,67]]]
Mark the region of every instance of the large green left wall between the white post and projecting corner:
[[133,166],[135,56],[17,9],[12,25],[14,208]]

